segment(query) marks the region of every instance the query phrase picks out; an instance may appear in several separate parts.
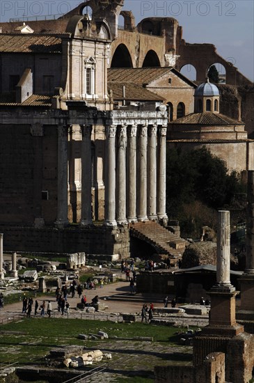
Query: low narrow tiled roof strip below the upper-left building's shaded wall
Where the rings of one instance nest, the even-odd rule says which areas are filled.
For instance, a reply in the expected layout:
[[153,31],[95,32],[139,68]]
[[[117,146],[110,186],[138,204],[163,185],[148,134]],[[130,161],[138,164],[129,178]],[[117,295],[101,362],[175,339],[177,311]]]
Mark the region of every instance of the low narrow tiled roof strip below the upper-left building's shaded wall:
[[15,102],[15,93],[2,93],[0,95],[0,106],[10,107],[51,107],[50,95],[31,95],[26,101],[19,104]]

